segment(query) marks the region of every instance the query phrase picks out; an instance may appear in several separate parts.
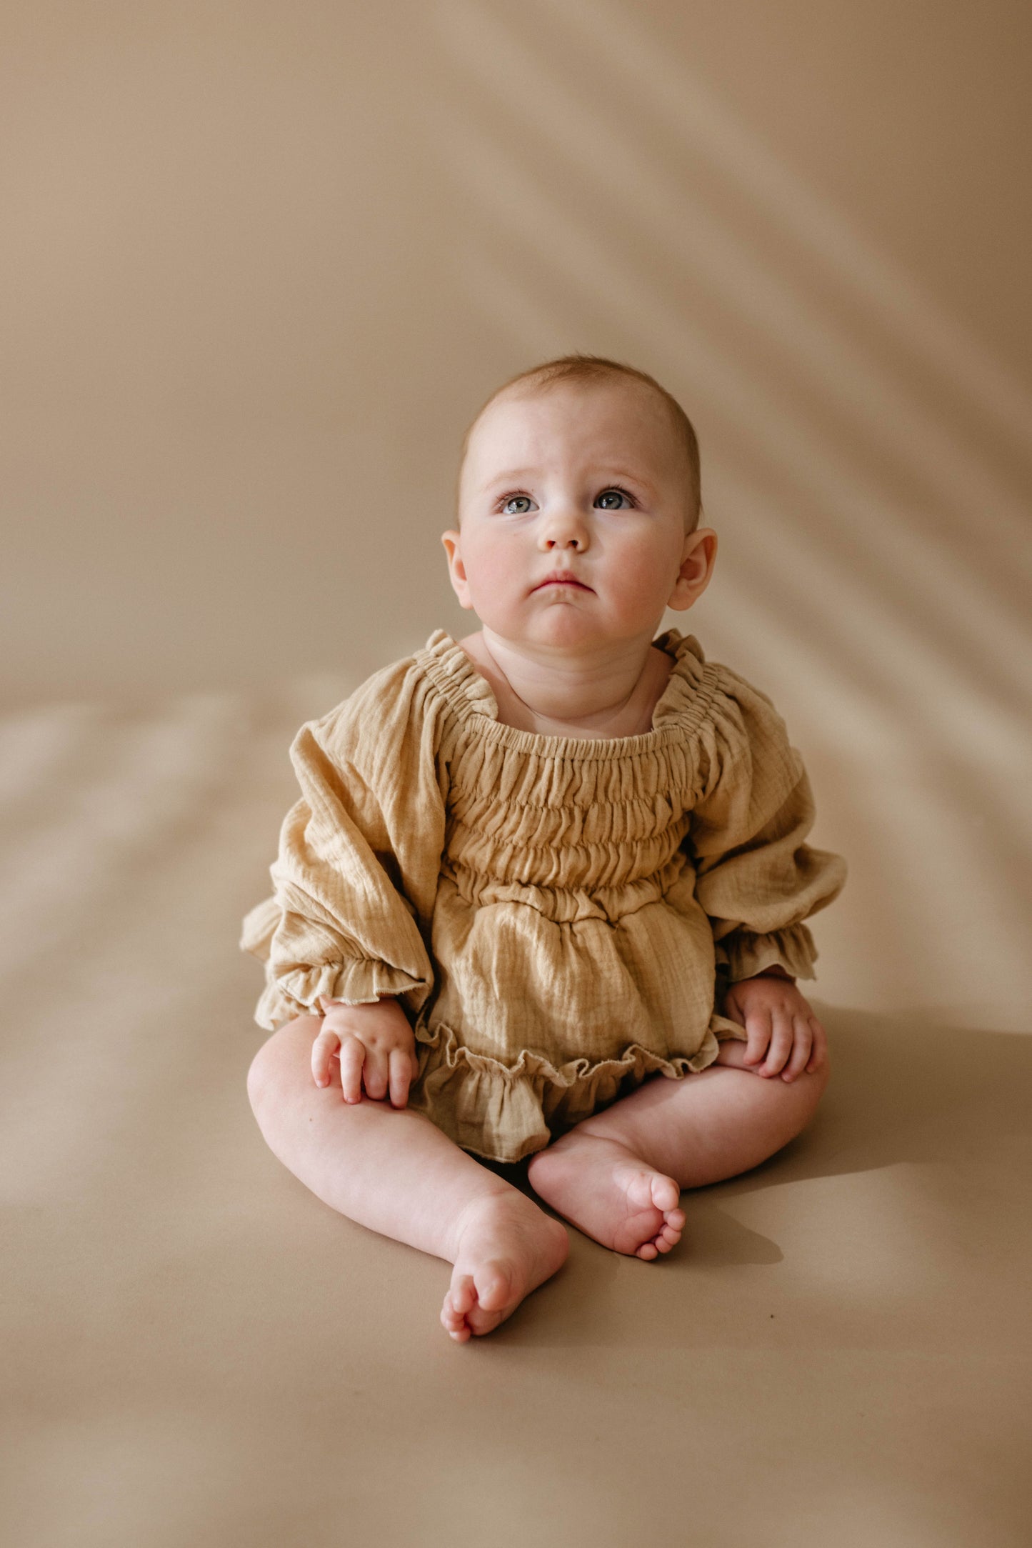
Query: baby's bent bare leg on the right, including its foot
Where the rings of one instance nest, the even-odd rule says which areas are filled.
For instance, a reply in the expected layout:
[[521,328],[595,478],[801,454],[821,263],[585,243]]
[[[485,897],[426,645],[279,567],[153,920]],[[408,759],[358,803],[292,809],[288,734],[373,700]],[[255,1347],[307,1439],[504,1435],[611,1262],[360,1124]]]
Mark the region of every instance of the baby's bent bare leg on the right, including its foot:
[[706,1187],[766,1161],[809,1121],[826,1065],[795,1081],[743,1067],[746,1045],[682,1081],[653,1079],[585,1118],[531,1161],[534,1190],[617,1252],[654,1259],[681,1240],[682,1187]]

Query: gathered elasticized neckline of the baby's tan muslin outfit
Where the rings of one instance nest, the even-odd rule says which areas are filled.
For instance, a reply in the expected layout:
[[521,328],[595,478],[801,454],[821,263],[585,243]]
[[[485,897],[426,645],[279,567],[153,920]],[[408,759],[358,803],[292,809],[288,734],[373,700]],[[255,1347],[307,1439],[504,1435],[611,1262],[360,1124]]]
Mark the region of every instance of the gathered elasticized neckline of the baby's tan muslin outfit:
[[667,628],[653,644],[673,656],[673,669],[653,709],[653,729],[634,737],[555,737],[506,726],[498,720],[498,701],[490,683],[444,628],[433,630],[415,659],[456,715],[487,740],[538,757],[608,762],[656,752],[681,741],[685,731],[692,732],[702,723],[716,692],[716,667],[706,661],[695,635]]

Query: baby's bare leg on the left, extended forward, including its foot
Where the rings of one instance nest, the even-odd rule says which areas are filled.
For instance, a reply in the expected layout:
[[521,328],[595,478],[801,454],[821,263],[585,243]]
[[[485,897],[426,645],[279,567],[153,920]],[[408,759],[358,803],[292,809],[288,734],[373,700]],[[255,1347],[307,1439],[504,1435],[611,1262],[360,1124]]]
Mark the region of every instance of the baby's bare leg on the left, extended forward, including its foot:
[[258,1050],[248,1093],[269,1149],[323,1203],[455,1265],[441,1322],[458,1342],[489,1333],[563,1263],[565,1229],[421,1113],[340,1094],[311,1074],[319,1019]]

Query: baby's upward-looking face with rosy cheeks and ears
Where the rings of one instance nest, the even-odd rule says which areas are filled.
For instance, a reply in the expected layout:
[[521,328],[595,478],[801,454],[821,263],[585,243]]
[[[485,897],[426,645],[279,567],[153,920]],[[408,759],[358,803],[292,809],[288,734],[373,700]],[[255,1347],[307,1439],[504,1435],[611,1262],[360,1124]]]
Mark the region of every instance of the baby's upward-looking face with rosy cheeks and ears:
[[[689,515],[687,460],[662,399],[634,381],[563,382],[486,409],[460,480],[460,531],[443,542],[460,602],[489,633],[576,652],[648,641],[665,607],[690,607],[712,545],[701,553],[709,529],[685,533]],[[549,582],[555,570],[579,584]]]

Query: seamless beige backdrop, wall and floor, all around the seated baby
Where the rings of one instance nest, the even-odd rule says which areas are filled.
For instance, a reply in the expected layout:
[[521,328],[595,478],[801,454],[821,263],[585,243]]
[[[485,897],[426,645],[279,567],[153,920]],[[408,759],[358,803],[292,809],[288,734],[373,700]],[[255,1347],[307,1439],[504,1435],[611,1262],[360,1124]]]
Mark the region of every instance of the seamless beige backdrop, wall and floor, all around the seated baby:
[[[1017,0],[8,0],[12,1542],[336,1542],[354,1498],[622,1548],[641,1477],[679,1543],[693,1458],[706,1548],[1027,1540],[1030,54]],[[849,858],[846,1073],[678,1269],[580,1243],[456,1364],[443,1266],[261,1150],[235,929],[294,724],[470,625],[467,420],[572,348],[698,426],[719,565],[667,622],[774,697]]]

